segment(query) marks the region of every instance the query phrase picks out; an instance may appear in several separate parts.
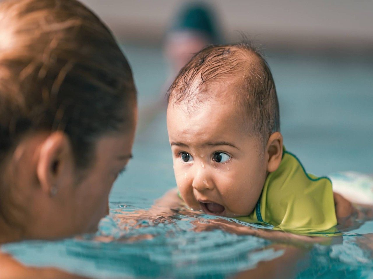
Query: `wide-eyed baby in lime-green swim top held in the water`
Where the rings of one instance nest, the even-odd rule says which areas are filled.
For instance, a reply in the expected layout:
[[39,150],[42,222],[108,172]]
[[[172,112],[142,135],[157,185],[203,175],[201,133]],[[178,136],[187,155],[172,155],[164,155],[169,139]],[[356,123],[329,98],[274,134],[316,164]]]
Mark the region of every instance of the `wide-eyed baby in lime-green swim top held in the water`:
[[167,129],[191,209],[303,233],[335,232],[337,217],[351,214],[329,178],[285,150],[275,83],[250,44],[194,55],[169,89]]

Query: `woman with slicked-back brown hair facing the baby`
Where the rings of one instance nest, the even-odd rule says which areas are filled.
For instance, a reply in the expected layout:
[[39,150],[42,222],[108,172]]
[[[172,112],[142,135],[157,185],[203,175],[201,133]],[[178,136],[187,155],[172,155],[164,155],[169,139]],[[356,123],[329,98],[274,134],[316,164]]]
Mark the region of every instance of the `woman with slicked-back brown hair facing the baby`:
[[[75,0],[2,3],[0,243],[94,232],[136,118],[131,68],[97,16]],[[0,277],[27,272],[0,265]]]

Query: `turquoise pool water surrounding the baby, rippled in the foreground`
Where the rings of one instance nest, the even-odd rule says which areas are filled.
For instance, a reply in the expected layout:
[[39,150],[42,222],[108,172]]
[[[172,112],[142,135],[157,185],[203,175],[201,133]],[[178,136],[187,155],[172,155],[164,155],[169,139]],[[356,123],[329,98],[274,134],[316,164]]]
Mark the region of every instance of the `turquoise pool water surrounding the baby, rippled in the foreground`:
[[[141,109],[159,94],[166,67],[159,49],[127,46],[125,52]],[[269,64],[286,148],[306,170],[373,173],[372,60],[272,54]],[[166,223],[121,222],[123,213],[150,208],[175,186],[164,119],[160,113],[138,135],[134,159],[116,181],[110,215],[96,235],[24,241],[2,249],[28,265],[56,266],[93,278],[226,278],[282,257],[284,249],[275,249],[274,241],[222,230],[194,232],[194,221],[208,224],[214,218],[197,212],[175,214]],[[296,278],[373,278],[373,221],[360,225],[333,244],[292,246],[303,251],[294,266]]]

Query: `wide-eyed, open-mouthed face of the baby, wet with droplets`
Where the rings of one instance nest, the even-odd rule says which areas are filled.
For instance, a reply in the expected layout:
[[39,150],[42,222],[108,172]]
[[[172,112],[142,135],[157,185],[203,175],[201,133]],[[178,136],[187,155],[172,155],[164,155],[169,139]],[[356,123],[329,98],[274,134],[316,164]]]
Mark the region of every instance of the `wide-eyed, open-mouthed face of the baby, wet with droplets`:
[[187,104],[170,100],[167,129],[185,203],[207,214],[249,215],[266,180],[267,160],[233,101],[211,100],[188,112]]

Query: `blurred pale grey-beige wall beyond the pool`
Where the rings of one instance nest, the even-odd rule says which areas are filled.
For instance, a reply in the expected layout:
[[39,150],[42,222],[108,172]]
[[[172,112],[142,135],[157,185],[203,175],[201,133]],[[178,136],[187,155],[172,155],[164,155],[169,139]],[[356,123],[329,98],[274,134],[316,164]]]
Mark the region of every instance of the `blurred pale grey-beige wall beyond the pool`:
[[[182,0],[83,0],[123,42],[161,44]],[[373,51],[372,0],[214,0],[228,41],[243,31],[268,48]]]

